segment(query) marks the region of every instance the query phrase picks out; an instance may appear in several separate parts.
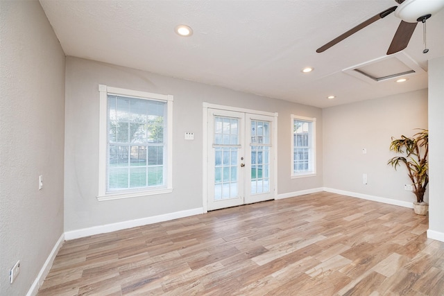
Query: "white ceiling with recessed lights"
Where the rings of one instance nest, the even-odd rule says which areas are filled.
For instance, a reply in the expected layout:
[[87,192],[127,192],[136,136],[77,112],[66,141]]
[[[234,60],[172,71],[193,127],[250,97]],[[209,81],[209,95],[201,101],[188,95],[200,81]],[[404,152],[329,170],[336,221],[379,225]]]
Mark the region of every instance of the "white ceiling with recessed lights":
[[[427,1],[427,0],[425,0]],[[427,88],[427,73],[369,83],[342,70],[386,55],[400,19],[392,13],[323,53],[316,49],[394,0],[53,1],[40,0],[66,55],[330,107]],[[178,24],[191,37],[174,32]],[[403,52],[427,71],[444,55],[444,10]],[[314,71],[303,74],[303,67]],[[326,97],[334,94],[336,98]]]

